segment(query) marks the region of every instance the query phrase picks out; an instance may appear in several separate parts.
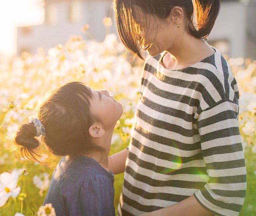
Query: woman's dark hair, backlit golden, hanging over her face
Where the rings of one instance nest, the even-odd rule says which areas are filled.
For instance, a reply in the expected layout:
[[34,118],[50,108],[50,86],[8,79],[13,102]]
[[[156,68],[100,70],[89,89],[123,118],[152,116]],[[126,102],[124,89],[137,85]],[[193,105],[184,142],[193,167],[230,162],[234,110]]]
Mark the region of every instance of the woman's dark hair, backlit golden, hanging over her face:
[[[143,59],[141,46],[145,45],[145,38],[140,36],[141,27],[134,17],[134,10],[139,10],[139,8],[145,15],[150,14],[155,18],[165,20],[172,8],[179,6],[184,10],[185,18],[188,20],[188,31],[195,38],[206,38],[219,14],[220,0],[195,0],[195,3],[199,31],[192,23],[193,4],[191,0],[115,0],[117,30],[122,43],[133,54]],[[144,34],[147,35],[147,33]]]

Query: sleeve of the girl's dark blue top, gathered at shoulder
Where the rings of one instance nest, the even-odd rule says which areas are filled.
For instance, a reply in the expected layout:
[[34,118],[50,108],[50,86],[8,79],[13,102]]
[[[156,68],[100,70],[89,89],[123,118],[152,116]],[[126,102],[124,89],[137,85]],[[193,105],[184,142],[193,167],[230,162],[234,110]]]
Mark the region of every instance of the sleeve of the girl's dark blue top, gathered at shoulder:
[[106,176],[89,175],[73,190],[76,196],[70,202],[68,215],[115,215],[113,182]]

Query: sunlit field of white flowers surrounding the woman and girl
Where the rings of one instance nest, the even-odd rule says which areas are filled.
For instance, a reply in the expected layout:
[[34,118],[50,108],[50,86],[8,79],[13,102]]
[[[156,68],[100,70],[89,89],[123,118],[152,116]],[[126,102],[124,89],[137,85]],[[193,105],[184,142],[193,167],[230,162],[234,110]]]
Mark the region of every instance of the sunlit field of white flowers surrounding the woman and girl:
[[[240,215],[256,215],[256,61],[229,59],[240,90],[239,125],[247,167],[247,196]],[[0,215],[55,215],[42,206],[53,169],[21,159],[12,142],[19,124],[36,115],[45,95],[67,82],[81,81],[107,89],[124,108],[118,121],[110,154],[129,144],[133,116],[140,90],[143,61],[132,61],[115,35],[103,42],[73,36],[47,53],[0,58]],[[60,158],[42,153],[42,160],[56,164]],[[115,176],[117,208],[123,174]],[[19,214],[21,213],[21,214]]]

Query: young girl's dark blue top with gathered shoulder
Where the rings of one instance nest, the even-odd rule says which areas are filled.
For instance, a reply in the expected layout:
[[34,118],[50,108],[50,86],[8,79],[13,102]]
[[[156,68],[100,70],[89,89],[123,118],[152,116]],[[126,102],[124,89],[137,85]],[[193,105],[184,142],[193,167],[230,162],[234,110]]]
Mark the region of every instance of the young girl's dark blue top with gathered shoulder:
[[98,162],[76,156],[63,157],[56,166],[44,200],[51,203],[56,216],[113,216],[114,175]]

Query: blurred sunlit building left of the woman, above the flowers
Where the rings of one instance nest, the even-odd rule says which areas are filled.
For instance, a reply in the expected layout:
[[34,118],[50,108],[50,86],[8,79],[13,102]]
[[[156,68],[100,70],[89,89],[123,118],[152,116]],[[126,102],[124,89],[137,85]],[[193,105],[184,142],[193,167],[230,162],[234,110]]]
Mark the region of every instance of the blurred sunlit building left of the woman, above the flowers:
[[[103,18],[111,16],[112,0],[44,0],[45,21],[38,26],[17,29],[17,54],[36,53],[38,47],[47,51],[64,44],[71,35],[82,35],[84,25],[89,25],[90,38],[102,41],[106,33],[115,32],[114,25],[105,27]],[[111,15],[110,15],[111,13]]]

